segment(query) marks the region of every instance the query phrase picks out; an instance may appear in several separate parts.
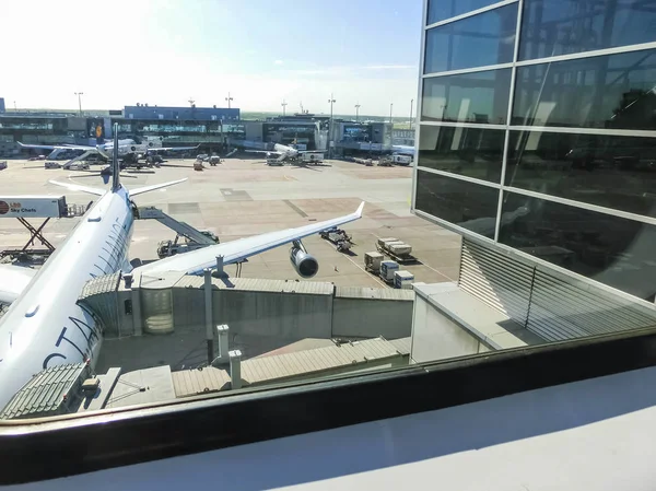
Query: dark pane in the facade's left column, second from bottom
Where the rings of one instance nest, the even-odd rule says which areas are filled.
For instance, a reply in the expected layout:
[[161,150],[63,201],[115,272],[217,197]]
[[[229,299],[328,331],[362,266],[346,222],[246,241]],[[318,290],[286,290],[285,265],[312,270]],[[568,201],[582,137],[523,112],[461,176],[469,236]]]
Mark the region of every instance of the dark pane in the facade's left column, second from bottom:
[[504,137],[497,129],[422,126],[419,165],[499,184]]

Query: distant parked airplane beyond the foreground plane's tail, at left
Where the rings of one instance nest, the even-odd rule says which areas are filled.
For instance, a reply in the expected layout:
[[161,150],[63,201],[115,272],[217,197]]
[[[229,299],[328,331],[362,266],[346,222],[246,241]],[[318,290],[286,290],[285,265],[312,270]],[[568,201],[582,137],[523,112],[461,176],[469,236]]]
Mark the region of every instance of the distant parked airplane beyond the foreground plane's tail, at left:
[[[116,142],[116,143],[115,143]],[[118,155],[124,160],[124,166],[128,164],[138,165],[139,159],[145,156],[149,151],[185,151],[185,150],[194,150],[197,147],[162,147],[161,138],[144,138],[141,141],[138,138],[127,138],[117,140],[114,142],[107,143],[98,143],[95,147],[92,145],[74,145],[74,144],[62,144],[62,145],[39,145],[39,144],[25,144],[17,142],[19,145],[23,149],[46,149],[51,150],[52,153],[57,151],[82,151],[82,153],[66,164],[63,164],[63,168],[70,168],[75,162],[85,160],[90,155],[98,154],[107,160],[112,160],[112,152],[114,151],[114,145],[118,147]]]

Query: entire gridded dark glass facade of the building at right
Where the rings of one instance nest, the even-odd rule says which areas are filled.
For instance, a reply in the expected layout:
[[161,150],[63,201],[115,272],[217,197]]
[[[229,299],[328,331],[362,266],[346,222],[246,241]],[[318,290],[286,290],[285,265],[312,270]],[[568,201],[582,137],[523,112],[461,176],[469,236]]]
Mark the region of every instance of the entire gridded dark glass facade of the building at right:
[[413,208],[653,300],[651,3],[429,0]]

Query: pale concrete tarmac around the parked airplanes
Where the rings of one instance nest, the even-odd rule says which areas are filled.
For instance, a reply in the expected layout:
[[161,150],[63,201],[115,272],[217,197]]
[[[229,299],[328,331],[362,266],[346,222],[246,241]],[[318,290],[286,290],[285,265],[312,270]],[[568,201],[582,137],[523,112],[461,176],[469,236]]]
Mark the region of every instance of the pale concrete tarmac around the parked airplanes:
[[[187,177],[186,183],[141,195],[134,201],[139,207],[159,207],[197,229],[209,229],[221,242],[347,214],[364,200],[362,219],[343,226],[355,243],[350,253],[337,252],[319,236],[304,239],[306,248],[319,261],[319,271],[312,281],[387,288],[364,270],[364,254],[376,250],[378,237],[389,236],[412,246],[417,264],[400,269],[412,272],[415,281],[457,280],[460,236],[410,212],[411,167],[366,167],[344,161],[326,161],[324,165],[308,167],[268,166],[261,159],[226,159],[216,166],[206,163],[202,172],[194,171],[192,166],[194,160],[171,159],[160,168],[124,172],[121,182],[129,189]],[[106,187],[99,176],[101,168],[45,169],[43,161],[9,160],[8,168],[0,171],[0,199],[15,195],[65,195],[69,204],[86,206],[94,196],[70,191],[48,180]],[[44,236],[57,247],[78,220],[51,220],[44,229]],[[31,223],[37,225],[42,221],[34,219]],[[22,247],[28,236],[17,220],[3,219],[0,249]],[[157,243],[174,236],[172,230],[156,221],[137,221],[130,258],[155,260]],[[227,273],[234,276],[235,268],[227,266]],[[242,277],[298,279],[289,260],[289,247],[250,258],[242,268]]]

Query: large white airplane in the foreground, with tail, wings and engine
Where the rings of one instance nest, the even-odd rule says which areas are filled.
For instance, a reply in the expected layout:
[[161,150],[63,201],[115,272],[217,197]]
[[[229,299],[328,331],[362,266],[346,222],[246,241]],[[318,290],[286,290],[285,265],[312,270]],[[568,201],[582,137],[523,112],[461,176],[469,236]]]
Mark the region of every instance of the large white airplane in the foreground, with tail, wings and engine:
[[84,283],[96,276],[163,270],[197,274],[204,268],[215,268],[216,256],[223,256],[225,265],[235,264],[292,243],[292,266],[303,278],[311,278],[316,274],[318,262],[301,239],[362,217],[364,202],[344,217],[208,246],[132,269],[128,261],[137,208],[132,198],[187,179],[128,190],[120,183],[118,137],[114,139],[113,154],[109,190],[50,182],[99,199],[36,274],[34,270],[13,265],[0,268],[0,301],[11,303],[0,318],[0,410],[42,370],[78,362],[95,366],[103,326],[93,312],[77,301]]

